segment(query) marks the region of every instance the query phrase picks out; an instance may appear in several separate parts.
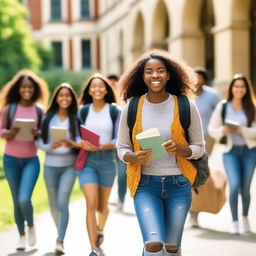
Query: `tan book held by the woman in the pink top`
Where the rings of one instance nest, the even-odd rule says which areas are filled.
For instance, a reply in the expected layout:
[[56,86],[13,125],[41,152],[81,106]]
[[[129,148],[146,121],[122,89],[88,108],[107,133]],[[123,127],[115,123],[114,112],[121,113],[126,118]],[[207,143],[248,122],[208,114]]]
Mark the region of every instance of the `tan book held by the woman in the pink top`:
[[36,127],[36,122],[34,119],[16,118],[15,126],[19,128],[19,131],[15,136],[16,140],[21,140],[21,141],[34,140],[34,136],[31,132],[31,130]]

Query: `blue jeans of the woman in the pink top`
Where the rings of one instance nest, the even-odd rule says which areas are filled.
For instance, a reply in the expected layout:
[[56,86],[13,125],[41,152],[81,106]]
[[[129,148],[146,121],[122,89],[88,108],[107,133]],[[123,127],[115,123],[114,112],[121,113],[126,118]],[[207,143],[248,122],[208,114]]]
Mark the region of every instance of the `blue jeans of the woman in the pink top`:
[[14,217],[20,235],[25,234],[25,221],[34,226],[32,193],[38,179],[38,157],[18,158],[4,155],[4,172],[12,193]]

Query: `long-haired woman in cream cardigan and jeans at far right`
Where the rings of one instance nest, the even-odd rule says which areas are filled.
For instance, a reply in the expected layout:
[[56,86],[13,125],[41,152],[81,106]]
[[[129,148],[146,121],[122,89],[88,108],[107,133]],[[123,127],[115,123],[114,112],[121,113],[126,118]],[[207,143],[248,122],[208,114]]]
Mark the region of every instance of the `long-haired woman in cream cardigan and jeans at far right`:
[[[225,136],[226,140],[223,162],[229,183],[230,232],[249,232],[250,185],[256,166],[256,111],[255,96],[244,75],[236,74],[233,77],[227,100],[216,106],[208,130],[215,139]],[[241,230],[238,223],[239,194],[242,197]]]

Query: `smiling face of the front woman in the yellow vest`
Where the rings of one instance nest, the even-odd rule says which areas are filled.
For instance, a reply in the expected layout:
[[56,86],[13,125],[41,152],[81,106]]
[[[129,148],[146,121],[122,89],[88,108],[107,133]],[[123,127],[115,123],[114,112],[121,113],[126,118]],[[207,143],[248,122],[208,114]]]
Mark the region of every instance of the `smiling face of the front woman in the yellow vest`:
[[144,67],[143,80],[149,93],[165,92],[165,86],[170,78],[164,63],[158,59],[150,59]]

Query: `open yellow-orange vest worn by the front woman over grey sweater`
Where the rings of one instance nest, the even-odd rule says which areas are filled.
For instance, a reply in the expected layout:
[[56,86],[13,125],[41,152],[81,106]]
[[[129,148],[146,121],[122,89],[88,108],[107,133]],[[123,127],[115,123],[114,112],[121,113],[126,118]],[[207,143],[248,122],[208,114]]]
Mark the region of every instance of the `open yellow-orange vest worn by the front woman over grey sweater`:
[[[170,130],[172,132],[172,140],[179,146],[187,146],[184,130],[180,124],[179,107],[177,96],[174,97],[174,118]],[[138,103],[136,121],[133,127],[132,141],[134,152],[140,151],[140,145],[136,140],[136,135],[142,132],[142,105],[145,95],[141,96]],[[196,168],[193,164],[183,156],[176,156],[176,161],[182,174],[193,184],[196,177]],[[130,196],[134,197],[138,188],[141,177],[141,165],[138,163],[129,163],[127,166],[127,184],[130,189]]]

